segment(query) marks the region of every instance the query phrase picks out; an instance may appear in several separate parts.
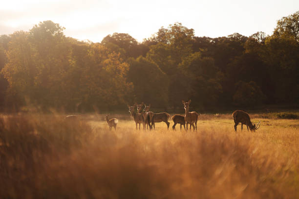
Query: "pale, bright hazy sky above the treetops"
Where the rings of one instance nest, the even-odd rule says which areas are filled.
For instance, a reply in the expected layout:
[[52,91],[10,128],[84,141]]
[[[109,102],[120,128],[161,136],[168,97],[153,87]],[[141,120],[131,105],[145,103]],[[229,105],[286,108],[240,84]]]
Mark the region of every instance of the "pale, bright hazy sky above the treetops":
[[297,11],[299,0],[3,0],[0,35],[44,20],[65,27],[68,37],[93,42],[114,32],[142,41],[174,22],[198,37],[271,35],[277,20]]

